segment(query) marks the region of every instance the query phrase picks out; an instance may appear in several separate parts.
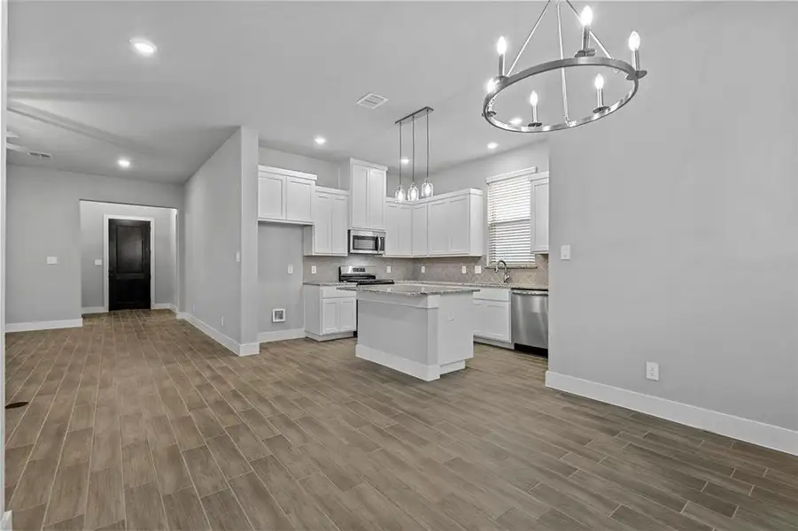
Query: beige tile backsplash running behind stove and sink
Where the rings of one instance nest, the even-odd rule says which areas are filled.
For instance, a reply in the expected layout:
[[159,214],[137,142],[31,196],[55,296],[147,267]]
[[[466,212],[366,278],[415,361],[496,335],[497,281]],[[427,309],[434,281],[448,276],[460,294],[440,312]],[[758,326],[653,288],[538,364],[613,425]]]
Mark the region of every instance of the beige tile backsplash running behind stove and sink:
[[[510,281],[539,287],[548,286],[548,255],[538,255],[536,259],[536,268],[510,269]],[[495,273],[492,267],[485,265],[485,260],[485,257],[376,258],[367,255],[346,258],[305,257],[303,274],[306,281],[333,282],[338,280],[338,266],[376,266],[377,277],[394,281],[502,281],[504,271]],[[316,266],[315,274],[311,274],[312,266]],[[386,266],[391,266],[391,273],[386,272]],[[466,266],[467,273],[462,273],[462,266]],[[481,266],[482,273],[474,273],[474,266]]]

